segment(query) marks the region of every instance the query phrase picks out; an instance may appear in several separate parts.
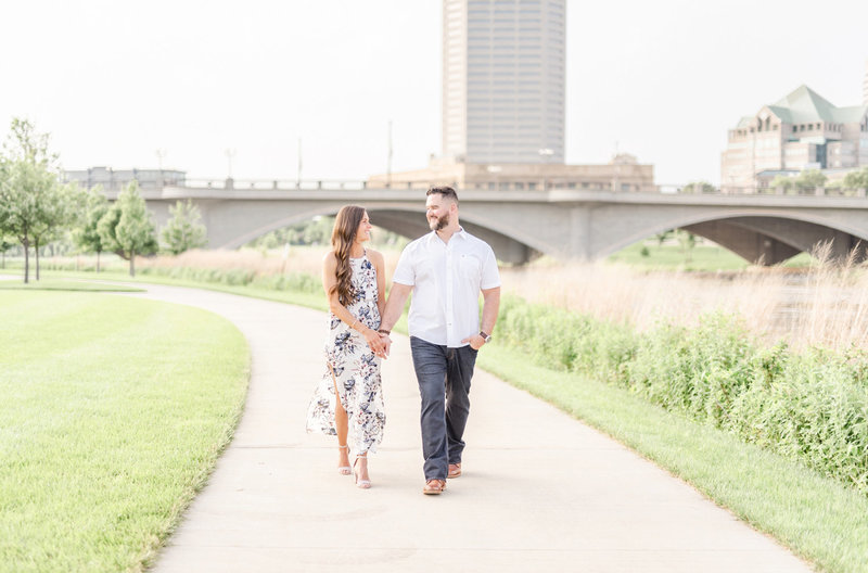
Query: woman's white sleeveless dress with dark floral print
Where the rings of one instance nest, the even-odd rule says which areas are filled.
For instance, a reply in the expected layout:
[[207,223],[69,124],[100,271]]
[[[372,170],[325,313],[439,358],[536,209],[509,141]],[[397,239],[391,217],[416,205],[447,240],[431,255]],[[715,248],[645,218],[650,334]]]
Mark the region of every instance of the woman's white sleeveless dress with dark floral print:
[[[367,251],[360,258],[350,258],[349,264],[355,298],[347,309],[359,322],[376,330],[380,328],[376,269]],[[361,333],[332,314],[326,339],[326,371],[307,410],[307,431],[337,434],[334,425],[336,383],[341,405],[347,413],[347,444],[356,455],[376,451],[386,421],[381,358],[371,351]]]

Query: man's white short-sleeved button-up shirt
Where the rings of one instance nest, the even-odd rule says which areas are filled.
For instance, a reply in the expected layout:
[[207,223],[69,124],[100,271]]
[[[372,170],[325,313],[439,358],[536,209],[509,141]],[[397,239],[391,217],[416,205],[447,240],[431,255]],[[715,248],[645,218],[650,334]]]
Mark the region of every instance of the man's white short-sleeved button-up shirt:
[[408,244],[392,280],[413,288],[410,335],[450,348],[480,332],[480,291],[500,286],[494,251],[463,229],[448,243],[432,231]]

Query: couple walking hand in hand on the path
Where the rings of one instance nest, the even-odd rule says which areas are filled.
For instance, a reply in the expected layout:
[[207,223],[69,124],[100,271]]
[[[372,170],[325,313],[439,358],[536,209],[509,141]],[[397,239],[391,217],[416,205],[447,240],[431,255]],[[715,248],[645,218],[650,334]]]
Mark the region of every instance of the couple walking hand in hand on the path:
[[412,292],[408,326],[422,398],[422,493],[427,495],[443,493],[447,478],[461,475],[470,381],[500,306],[495,254],[459,225],[455,189],[433,187],[426,195],[432,232],[401,253],[388,301],[383,255],[365,247],[371,222],[363,207],[339,212],[332,251],[323,259],[322,285],[331,309],[327,369],[308,408],[307,431],[337,436],[339,471],[353,473],[361,488],[371,486],[368,453],[376,450],[385,425],[380,362],[388,356],[388,335],[407,296]]

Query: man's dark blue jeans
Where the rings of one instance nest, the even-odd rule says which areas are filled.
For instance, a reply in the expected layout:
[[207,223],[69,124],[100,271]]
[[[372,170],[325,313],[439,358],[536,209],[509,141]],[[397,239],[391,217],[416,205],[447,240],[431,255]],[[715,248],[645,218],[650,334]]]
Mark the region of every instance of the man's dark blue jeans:
[[422,455],[425,480],[445,480],[449,463],[461,463],[470,413],[470,379],[476,351],[448,348],[410,336],[413,368],[422,396]]

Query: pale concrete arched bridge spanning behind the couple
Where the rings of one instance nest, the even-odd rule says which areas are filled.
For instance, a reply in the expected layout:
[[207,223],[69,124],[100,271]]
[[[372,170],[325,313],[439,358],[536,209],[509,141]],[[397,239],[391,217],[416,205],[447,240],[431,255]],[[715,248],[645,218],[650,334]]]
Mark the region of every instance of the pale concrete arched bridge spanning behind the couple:
[[[144,188],[157,225],[168,207],[190,199],[202,212],[208,246],[235,249],[269,231],[343,205],[363,205],[372,221],[405,237],[429,231],[425,189],[370,189],[363,183],[188,181],[183,187]],[[460,190],[461,222],[486,240],[506,263],[539,254],[562,259],[605,257],[668,229],[707,238],[750,262],[774,265],[832,242],[834,256],[868,244],[868,198],[818,189],[810,194],[654,193],[544,188],[534,191]],[[110,191],[110,198],[116,191]]]

